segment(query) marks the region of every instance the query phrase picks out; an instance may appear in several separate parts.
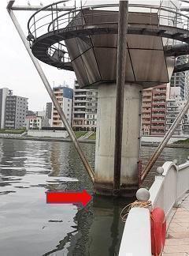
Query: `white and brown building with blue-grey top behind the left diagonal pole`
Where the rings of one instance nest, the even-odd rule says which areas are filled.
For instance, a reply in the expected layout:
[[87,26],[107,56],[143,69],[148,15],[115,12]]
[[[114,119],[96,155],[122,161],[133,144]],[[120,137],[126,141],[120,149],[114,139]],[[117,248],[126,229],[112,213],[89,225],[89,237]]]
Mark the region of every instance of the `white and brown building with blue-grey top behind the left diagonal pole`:
[[[57,98],[58,103],[60,104],[62,110],[65,113],[65,116],[71,125],[72,122],[72,88],[65,86],[57,86],[53,88],[54,95]],[[56,108],[52,107],[52,126],[53,127],[64,127],[63,122],[61,121],[60,115],[58,115]]]

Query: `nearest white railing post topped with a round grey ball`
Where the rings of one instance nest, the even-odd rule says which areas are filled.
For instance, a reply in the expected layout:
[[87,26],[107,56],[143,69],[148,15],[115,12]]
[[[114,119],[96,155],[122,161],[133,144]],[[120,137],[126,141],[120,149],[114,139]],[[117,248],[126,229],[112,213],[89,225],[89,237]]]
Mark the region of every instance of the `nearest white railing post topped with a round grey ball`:
[[[146,189],[140,189],[136,198],[145,205],[150,198]],[[151,256],[150,210],[134,207],[128,213],[120,243],[119,256]]]

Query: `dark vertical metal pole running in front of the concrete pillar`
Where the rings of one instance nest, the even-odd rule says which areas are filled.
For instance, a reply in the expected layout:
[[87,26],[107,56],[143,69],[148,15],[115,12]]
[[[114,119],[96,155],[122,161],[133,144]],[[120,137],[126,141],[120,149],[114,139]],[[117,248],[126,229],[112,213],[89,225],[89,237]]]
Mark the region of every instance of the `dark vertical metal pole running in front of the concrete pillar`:
[[116,96],[116,126],[114,151],[113,194],[120,194],[120,168],[122,151],[122,131],[124,112],[124,77],[127,51],[128,32],[128,1],[119,2],[119,23],[117,43],[117,96]]

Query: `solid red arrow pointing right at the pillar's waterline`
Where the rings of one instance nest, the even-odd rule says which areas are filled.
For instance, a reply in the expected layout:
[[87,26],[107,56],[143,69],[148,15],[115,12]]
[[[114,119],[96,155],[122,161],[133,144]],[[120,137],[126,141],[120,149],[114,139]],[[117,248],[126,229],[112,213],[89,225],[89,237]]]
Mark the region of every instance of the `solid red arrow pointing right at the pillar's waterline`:
[[76,204],[86,206],[91,201],[91,194],[88,194],[86,190],[81,192],[46,192],[47,204]]

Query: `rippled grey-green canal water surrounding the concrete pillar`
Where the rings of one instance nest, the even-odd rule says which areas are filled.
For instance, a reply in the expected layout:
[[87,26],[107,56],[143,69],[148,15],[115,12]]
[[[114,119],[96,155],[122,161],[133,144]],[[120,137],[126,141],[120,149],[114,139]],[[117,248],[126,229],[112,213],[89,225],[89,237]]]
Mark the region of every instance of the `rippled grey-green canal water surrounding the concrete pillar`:
[[[95,145],[82,144],[94,167]],[[155,148],[143,147],[143,164]],[[166,148],[166,160],[186,161],[188,149]],[[69,142],[0,139],[0,255],[117,255],[124,223],[120,210],[128,201],[93,198],[86,208],[47,205],[46,190],[83,190],[92,184]]]

